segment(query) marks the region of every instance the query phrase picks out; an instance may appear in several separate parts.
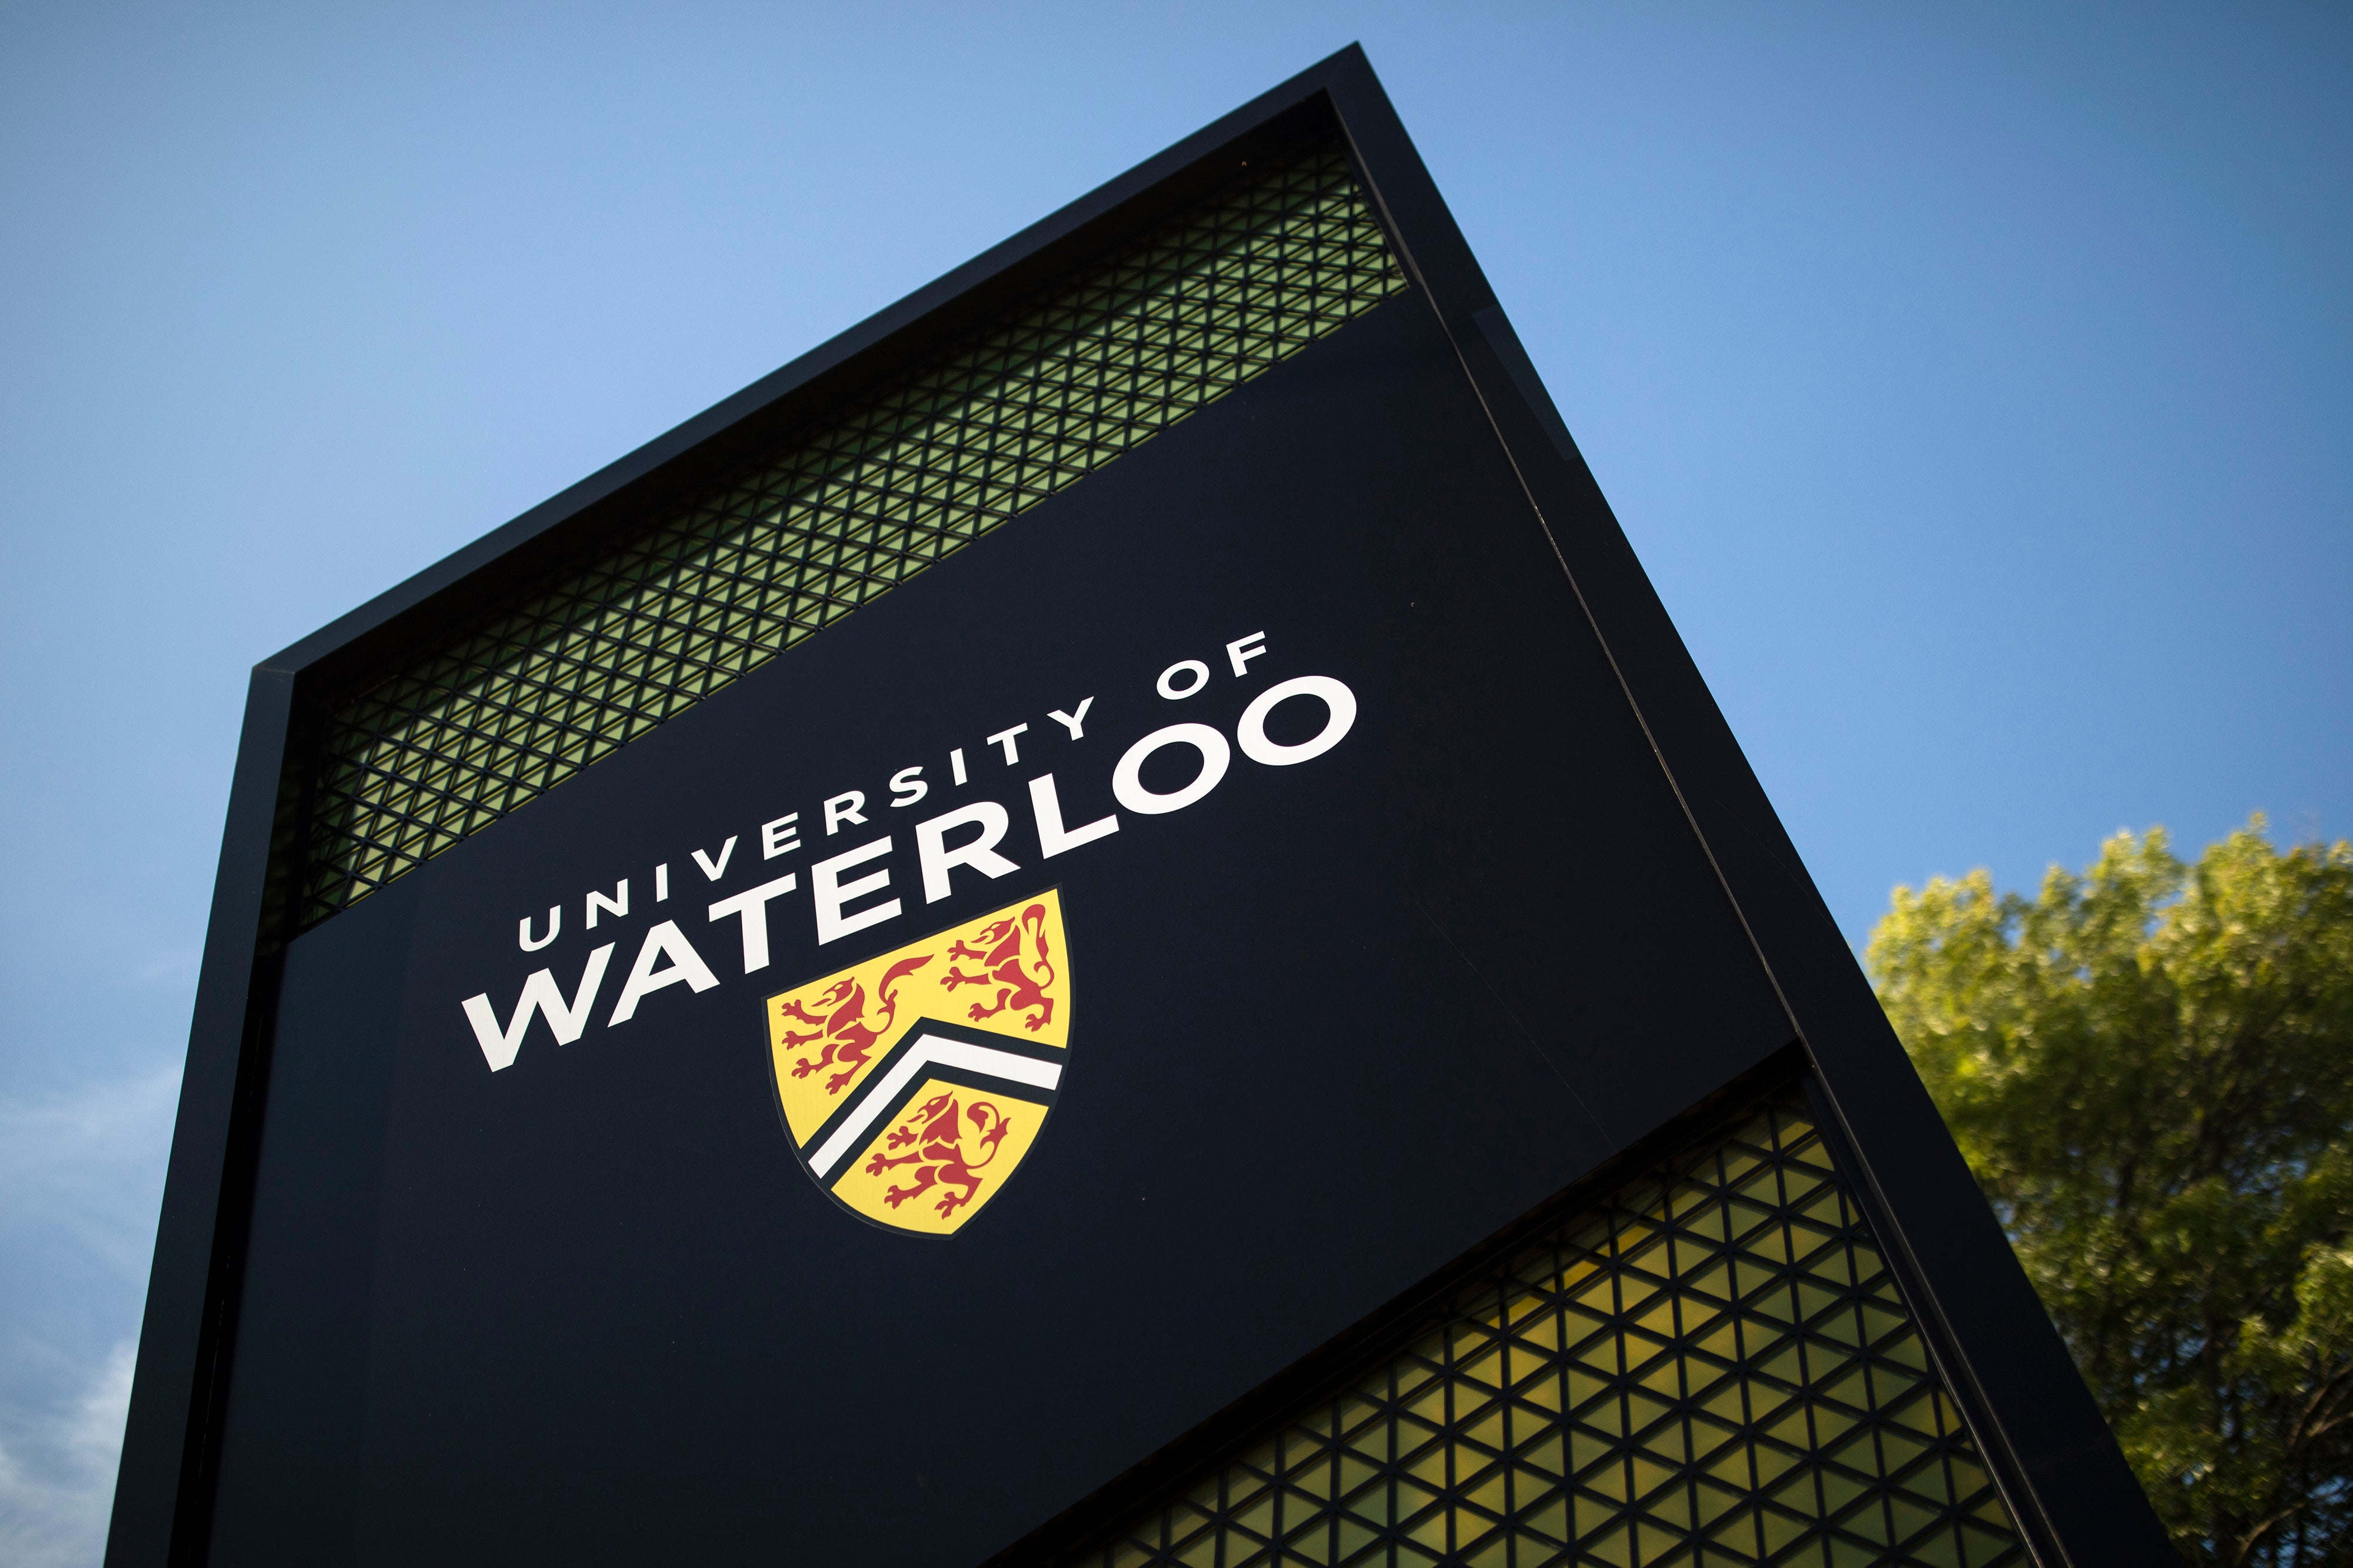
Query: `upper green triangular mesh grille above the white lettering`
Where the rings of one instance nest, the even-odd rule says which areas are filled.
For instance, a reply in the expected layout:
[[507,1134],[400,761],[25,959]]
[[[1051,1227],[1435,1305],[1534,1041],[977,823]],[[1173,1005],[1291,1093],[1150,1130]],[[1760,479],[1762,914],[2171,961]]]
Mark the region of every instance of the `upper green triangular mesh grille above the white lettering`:
[[313,925],[1407,287],[1337,146],[1012,311],[332,713]]

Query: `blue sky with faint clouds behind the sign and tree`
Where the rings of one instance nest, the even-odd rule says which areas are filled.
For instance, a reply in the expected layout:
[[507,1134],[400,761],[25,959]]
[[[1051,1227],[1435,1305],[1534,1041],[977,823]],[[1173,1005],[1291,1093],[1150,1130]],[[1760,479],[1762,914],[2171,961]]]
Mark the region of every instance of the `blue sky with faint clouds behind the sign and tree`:
[[2353,831],[2353,14],[0,7],[0,1559],[94,1563],[245,669],[1362,40],[1849,939]]

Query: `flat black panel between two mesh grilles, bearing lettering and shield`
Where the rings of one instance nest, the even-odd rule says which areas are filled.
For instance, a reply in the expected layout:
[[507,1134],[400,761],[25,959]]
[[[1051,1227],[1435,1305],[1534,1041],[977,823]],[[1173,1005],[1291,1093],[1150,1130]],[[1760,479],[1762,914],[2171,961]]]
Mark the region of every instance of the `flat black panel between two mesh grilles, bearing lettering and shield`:
[[[1042,963],[941,946],[873,1026],[868,961],[1040,899]],[[873,1038],[779,1048],[861,963]],[[1005,963],[1026,1010],[934,984]],[[301,937],[275,1038],[221,1561],[946,1566],[1788,1024],[1400,297]],[[1059,1071],[939,1078],[927,1163],[901,1074],[878,1222],[779,1092],[915,1038]]]

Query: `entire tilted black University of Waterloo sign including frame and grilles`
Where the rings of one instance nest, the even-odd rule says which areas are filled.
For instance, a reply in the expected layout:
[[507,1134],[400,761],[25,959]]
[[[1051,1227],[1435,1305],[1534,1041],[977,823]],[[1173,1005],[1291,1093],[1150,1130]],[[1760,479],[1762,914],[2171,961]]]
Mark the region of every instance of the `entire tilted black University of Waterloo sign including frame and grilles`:
[[118,1568],[2160,1540],[1355,49],[254,671]]

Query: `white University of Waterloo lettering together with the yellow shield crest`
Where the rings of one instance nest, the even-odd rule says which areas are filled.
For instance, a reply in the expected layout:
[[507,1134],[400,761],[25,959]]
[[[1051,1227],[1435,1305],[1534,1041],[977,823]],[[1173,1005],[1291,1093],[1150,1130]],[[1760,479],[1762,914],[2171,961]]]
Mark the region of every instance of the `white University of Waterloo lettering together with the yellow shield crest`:
[[[1047,862],[1118,833],[1122,812],[1151,831],[1153,817],[1198,805],[1217,791],[1235,756],[1257,768],[1292,768],[1339,746],[1358,723],[1348,683],[1334,676],[1266,680],[1264,671],[1252,678],[1249,666],[1264,655],[1264,631],[1224,645],[1221,664],[1249,690],[1231,737],[1198,720],[1141,735],[1118,751],[1108,779],[1085,782],[1089,796],[1108,793],[1115,803],[1092,822],[1064,819],[1064,786],[1054,772],[1021,775],[1040,768],[1045,746],[1056,742],[1064,772],[1087,772],[1078,742],[1087,739],[1094,695],[1068,711],[1052,709],[1045,716],[1052,730],[1038,739],[1026,742],[1026,720],[988,735],[986,746],[969,749],[979,760],[967,760],[967,746],[934,749],[934,763],[911,763],[889,775],[887,800],[885,791],[873,791],[873,812],[866,789],[828,796],[809,817],[824,822],[824,838],[854,841],[838,850],[821,838],[824,848],[809,855],[800,836],[802,812],[791,810],[758,831],[718,838],[715,850],[694,845],[678,862],[656,862],[638,878],[614,878],[609,890],[595,885],[576,904],[560,899],[544,916],[520,916],[515,951],[553,954],[520,989],[508,986],[513,1001],[504,1008],[492,991],[464,998],[459,1010],[485,1067],[494,1074],[515,1067],[527,1041],[541,1050],[574,1045],[595,1026],[628,1024],[640,1005],[671,986],[685,986],[685,996],[661,1005],[687,1008],[736,975],[772,979],[779,946],[802,949],[791,937],[772,937],[772,921],[786,909],[807,909],[814,963],[828,944],[948,902],[958,876],[981,890],[1002,878],[1038,883]],[[1176,659],[1151,690],[1167,704],[1195,697],[1209,683],[1202,659]],[[1141,709],[1113,704],[1108,711],[1120,706],[1129,713]],[[1301,720],[1301,711],[1308,718]],[[1115,742],[1101,739],[1101,720],[1094,727],[1094,751],[1111,760]],[[927,768],[941,777],[936,796]],[[976,779],[974,770],[995,777]],[[1026,817],[1019,843],[1007,845],[1014,808],[981,798],[984,791],[1016,800]],[[936,810],[944,800],[960,803]],[[880,831],[889,826],[885,810],[911,808],[918,819]],[[736,859],[744,843],[758,845],[758,859],[751,852]],[[1028,866],[1009,850],[1024,852]],[[809,862],[805,899],[788,897],[802,892],[802,871],[776,873],[772,862],[779,859]],[[713,937],[704,935],[699,944],[680,928],[682,911],[666,909],[673,904],[673,864],[692,864],[696,873],[675,883],[678,904],[708,899],[701,921],[722,928],[718,937],[729,954],[741,949],[741,968],[729,968],[727,958],[713,968],[704,958]],[[635,921],[633,881],[652,890]],[[579,932],[569,944],[574,954],[562,951],[567,909]],[[696,918],[685,913],[689,923]],[[626,972],[614,961],[624,935],[635,939]],[[567,963],[572,979],[558,975],[558,961]],[[482,963],[489,970],[513,968],[511,958],[492,954]],[[1014,904],[767,996],[762,1034],[776,1114],[809,1180],[849,1212],[889,1229],[925,1236],[962,1229],[1021,1165],[1056,1102],[1071,1050],[1071,965],[1061,890],[1040,885]],[[607,977],[619,982],[612,996]],[[734,1024],[734,1012],[718,1003],[701,1017],[711,1029]]]

